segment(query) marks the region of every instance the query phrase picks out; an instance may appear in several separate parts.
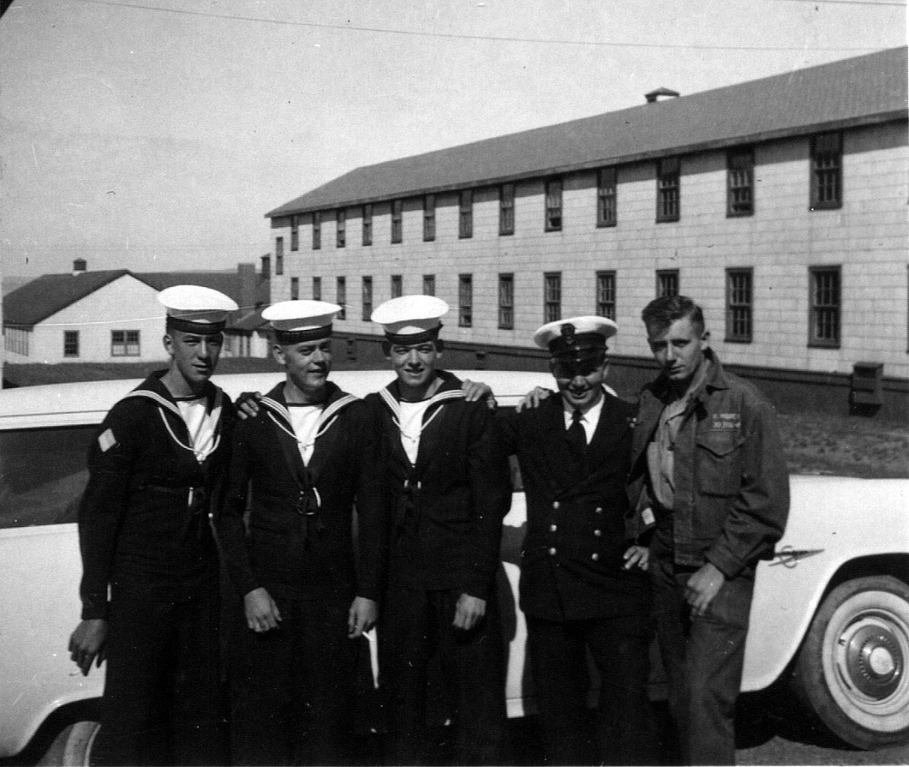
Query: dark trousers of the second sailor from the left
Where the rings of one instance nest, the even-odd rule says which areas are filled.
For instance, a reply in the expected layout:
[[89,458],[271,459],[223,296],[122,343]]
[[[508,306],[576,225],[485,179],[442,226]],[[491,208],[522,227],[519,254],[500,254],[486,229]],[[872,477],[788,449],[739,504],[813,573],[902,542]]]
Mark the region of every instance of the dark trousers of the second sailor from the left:
[[365,642],[347,638],[353,598],[275,599],[278,628],[241,630],[235,764],[349,763],[355,652]]

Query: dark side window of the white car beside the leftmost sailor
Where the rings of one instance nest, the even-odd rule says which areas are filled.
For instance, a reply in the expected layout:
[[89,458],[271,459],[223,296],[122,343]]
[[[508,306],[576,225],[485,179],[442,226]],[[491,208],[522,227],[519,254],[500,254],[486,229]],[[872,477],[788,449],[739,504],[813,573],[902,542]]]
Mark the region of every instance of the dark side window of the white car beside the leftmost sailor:
[[0,432],[0,529],[76,521],[97,426]]

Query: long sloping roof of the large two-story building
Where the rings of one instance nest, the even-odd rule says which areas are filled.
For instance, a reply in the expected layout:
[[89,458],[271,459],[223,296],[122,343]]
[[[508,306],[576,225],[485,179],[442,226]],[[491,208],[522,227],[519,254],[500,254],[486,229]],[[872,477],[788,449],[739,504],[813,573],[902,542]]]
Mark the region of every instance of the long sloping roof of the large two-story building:
[[906,47],[366,165],[266,217],[905,119]]

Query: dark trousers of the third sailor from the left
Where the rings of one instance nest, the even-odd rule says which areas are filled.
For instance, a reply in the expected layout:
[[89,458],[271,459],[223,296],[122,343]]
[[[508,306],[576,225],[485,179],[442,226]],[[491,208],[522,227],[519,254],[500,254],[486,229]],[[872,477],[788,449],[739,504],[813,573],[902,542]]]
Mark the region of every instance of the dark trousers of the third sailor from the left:
[[392,734],[388,762],[434,762],[426,726],[427,670],[438,653],[454,723],[454,762],[500,764],[503,759],[504,647],[493,591],[470,631],[455,629],[461,593],[389,589],[379,625],[379,668]]

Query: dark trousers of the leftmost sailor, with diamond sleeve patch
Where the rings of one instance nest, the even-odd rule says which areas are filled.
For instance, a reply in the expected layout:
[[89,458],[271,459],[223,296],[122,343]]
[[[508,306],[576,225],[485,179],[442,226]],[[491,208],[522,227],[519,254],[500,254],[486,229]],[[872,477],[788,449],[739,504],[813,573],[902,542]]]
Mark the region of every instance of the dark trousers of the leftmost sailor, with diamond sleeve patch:
[[217,585],[169,602],[115,585],[97,764],[224,764]]

